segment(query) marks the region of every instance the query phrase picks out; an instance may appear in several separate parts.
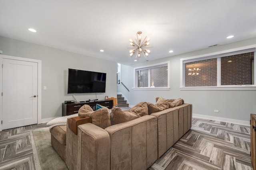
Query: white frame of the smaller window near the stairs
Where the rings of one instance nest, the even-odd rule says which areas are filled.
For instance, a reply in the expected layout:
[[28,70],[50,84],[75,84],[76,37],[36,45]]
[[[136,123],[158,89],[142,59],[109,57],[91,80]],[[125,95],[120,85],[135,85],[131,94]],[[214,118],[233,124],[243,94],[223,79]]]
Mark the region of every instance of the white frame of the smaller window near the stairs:
[[[138,87],[138,75],[136,74],[136,70],[143,70],[143,69],[150,69],[150,68],[154,68],[157,66],[161,66],[167,64],[167,87],[154,87],[154,88],[150,88],[150,87]],[[162,63],[156,63],[156,64],[151,64],[151,65],[146,65],[146,66],[140,66],[140,67],[134,67],[134,90],[170,90],[170,61],[166,61],[166,62],[162,62]],[[150,72],[150,71],[149,71]],[[148,81],[150,84],[150,74],[148,75]]]

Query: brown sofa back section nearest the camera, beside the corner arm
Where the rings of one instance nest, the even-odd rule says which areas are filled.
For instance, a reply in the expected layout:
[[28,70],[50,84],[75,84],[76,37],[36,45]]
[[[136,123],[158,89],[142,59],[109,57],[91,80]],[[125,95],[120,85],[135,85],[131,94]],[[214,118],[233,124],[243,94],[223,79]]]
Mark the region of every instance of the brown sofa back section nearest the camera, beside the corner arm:
[[105,129],[110,135],[111,169],[147,169],[157,159],[157,119],[145,115]]

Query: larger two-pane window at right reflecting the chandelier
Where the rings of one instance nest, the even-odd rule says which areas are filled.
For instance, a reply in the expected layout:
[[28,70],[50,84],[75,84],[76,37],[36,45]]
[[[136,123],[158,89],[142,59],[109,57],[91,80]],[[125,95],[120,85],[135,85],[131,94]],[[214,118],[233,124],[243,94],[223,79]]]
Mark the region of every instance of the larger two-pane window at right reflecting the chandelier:
[[181,59],[182,87],[254,86],[254,56],[251,48]]

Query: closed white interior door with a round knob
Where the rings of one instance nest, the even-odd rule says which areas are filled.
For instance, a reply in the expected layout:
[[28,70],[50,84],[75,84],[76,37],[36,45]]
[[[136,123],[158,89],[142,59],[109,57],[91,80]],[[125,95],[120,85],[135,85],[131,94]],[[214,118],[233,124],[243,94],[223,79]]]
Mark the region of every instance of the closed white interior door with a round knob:
[[38,63],[3,59],[2,129],[37,123]]

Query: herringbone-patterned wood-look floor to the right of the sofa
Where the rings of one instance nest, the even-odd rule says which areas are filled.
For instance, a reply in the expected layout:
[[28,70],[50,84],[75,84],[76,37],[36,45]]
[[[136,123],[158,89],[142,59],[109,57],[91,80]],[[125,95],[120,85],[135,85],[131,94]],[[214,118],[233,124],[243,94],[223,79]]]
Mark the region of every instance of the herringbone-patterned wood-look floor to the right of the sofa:
[[192,128],[148,170],[253,170],[250,127],[192,119]]

